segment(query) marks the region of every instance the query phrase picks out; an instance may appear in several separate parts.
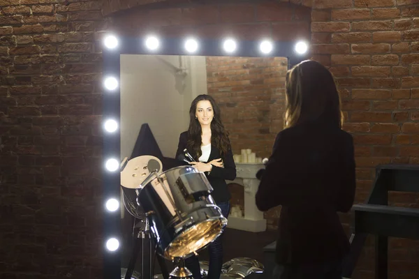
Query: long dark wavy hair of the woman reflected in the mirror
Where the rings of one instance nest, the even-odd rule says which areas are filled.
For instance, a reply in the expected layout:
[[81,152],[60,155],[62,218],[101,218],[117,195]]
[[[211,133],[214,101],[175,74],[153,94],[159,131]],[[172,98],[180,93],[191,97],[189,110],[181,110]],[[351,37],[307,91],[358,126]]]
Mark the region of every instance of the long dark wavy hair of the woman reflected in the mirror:
[[221,122],[221,110],[219,106],[215,103],[214,98],[206,94],[197,96],[191,103],[191,108],[189,109],[188,142],[186,147],[189,151],[193,151],[193,153],[196,154],[196,160],[202,155],[200,147],[202,145],[201,135],[203,130],[198,119],[196,119],[196,106],[200,100],[209,100],[212,105],[214,117],[211,121],[211,144],[219,149],[220,155],[223,156],[223,154],[226,154],[227,151],[231,149],[228,132]]

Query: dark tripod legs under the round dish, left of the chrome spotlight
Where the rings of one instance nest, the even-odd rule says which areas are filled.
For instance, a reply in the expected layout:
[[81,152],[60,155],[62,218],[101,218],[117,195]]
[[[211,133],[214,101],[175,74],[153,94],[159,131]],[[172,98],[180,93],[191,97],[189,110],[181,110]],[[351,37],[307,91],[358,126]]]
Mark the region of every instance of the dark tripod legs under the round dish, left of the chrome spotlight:
[[[148,265],[145,265],[145,239],[148,239],[149,243],[149,262]],[[125,278],[124,279],[131,279],[133,275],[133,271],[135,269],[135,263],[137,262],[138,250],[141,250],[141,266],[140,266],[140,274],[141,279],[153,279],[153,241],[152,241],[152,234],[150,233],[149,221],[148,218],[145,218],[145,228],[140,229],[137,234],[137,238],[134,240],[134,248],[133,253],[131,254],[131,259],[128,264],[128,269],[126,269]],[[157,260],[159,261],[159,265],[161,268],[161,273],[163,274],[164,279],[169,279],[168,276],[168,269],[166,266],[166,262],[162,259],[159,255],[156,255]]]

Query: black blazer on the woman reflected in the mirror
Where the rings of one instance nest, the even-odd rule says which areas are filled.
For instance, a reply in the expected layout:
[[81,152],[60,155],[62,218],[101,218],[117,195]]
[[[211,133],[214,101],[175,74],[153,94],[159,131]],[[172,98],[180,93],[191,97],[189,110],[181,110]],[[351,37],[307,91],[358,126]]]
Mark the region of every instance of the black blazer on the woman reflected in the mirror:
[[[184,149],[186,149],[187,137],[187,131],[180,134],[179,144],[177,145],[176,158],[184,151]],[[191,153],[193,158],[198,161],[196,153],[193,150],[188,151]],[[208,163],[217,158],[221,158],[220,152],[214,145],[211,144],[210,158],[208,158],[208,161],[204,163]],[[212,171],[210,174],[205,172],[208,181],[210,181],[212,188],[214,188],[214,191],[211,193],[211,195],[217,204],[220,202],[230,201],[231,195],[230,191],[228,190],[226,180],[234,180],[236,177],[236,167],[233,158],[233,151],[229,150],[221,159],[223,159],[224,167],[216,167],[212,165]],[[186,163],[184,163],[184,165],[186,165]]]

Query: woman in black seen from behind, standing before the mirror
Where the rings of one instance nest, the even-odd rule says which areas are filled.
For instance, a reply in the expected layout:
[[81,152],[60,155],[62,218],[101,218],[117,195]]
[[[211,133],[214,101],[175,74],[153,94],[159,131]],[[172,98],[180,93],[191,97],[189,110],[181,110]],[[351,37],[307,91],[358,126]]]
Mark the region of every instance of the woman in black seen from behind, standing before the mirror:
[[353,139],[342,122],[327,68],[303,61],[288,70],[284,130],[257,175],[258,209],[282,206],[273,278],[341,278],[349,241],[337,211],[355,197]]

